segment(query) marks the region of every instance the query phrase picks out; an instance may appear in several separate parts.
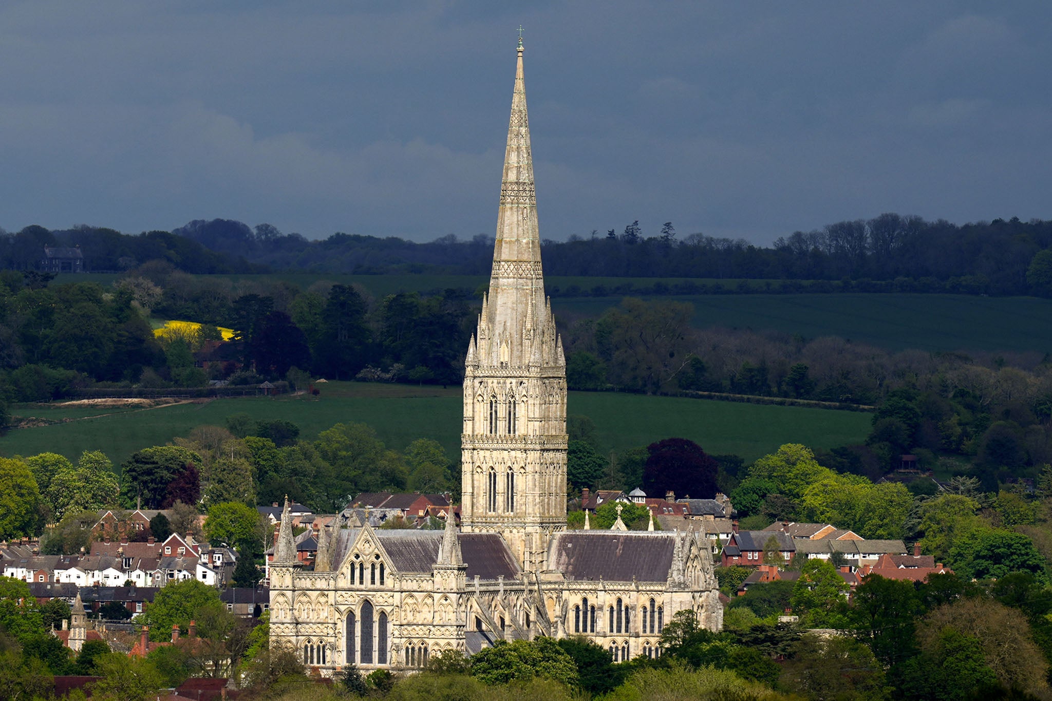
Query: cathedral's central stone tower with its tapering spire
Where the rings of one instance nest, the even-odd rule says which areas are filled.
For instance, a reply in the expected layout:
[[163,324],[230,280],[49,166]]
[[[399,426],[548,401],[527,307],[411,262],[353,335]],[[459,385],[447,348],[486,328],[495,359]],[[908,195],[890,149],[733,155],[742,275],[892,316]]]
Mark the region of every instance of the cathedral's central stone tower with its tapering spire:
[[541,273],[522,39],[518,51],[493,269],[464,362],[461,517],[537,571],[566,528],[566,360]]

